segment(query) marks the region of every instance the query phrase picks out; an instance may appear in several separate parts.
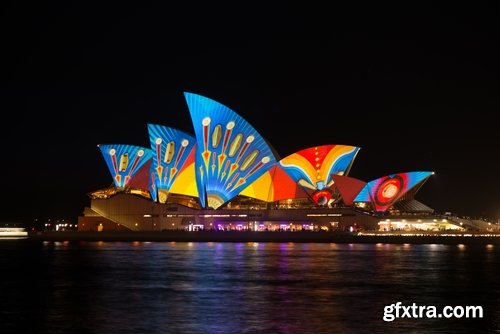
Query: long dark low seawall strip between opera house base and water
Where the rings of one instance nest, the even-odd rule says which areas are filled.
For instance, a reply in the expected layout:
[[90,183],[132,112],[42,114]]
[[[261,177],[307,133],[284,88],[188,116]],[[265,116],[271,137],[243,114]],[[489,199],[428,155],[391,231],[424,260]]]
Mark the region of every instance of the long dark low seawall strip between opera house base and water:
[[365,233],[255,232],[255,231],[44,231],[29,232],[33,241],[124,242],[296,242],[296,243],[391,243],[391,244],[499,244],[500,234],[472,233]]

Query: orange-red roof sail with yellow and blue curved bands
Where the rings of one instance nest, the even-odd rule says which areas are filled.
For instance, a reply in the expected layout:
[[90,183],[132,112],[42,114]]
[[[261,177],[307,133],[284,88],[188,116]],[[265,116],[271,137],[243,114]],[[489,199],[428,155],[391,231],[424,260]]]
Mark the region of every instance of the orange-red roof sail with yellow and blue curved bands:
[[290,177],[311,199],[325,205],[331,198],[332,175],[345,175],[359,151],[349,145],[323,145],[293,153],[279,161]]

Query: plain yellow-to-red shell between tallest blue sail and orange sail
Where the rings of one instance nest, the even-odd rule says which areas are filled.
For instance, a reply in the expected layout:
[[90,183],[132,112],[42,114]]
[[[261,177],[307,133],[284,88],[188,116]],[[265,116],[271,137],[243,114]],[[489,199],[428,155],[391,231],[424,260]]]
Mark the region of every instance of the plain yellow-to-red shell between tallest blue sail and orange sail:
[[257,180],[248,185],[240,195],[274,202],[284,199],[307,198],[308,195],[298,186],[279,164],[274,164]]

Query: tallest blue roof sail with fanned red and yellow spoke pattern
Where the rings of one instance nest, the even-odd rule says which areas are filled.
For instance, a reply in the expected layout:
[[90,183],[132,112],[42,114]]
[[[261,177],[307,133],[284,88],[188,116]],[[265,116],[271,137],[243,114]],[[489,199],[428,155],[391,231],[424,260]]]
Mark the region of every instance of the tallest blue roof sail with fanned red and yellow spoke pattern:
[[184,93],[196,135],[196,183],[202,207],[219,208],[274,162],[260,134],[228,107]]

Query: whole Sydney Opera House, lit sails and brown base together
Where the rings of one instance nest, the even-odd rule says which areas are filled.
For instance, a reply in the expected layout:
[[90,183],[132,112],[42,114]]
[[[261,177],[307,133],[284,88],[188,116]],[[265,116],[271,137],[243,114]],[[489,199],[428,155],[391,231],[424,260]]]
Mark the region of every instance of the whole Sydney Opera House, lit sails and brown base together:
[[349,175],[360,148],[326,144],[279,157],[236,112],[184,93],[194,135],[148,124],[150,147],[98,148],[111,186],[89,194],[79,230],[450,230],[415,199],[432,171]]

